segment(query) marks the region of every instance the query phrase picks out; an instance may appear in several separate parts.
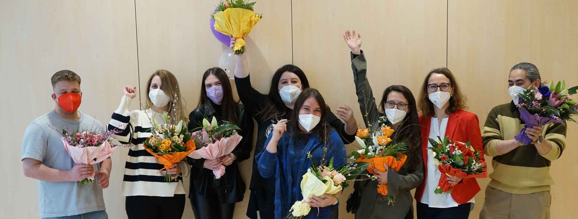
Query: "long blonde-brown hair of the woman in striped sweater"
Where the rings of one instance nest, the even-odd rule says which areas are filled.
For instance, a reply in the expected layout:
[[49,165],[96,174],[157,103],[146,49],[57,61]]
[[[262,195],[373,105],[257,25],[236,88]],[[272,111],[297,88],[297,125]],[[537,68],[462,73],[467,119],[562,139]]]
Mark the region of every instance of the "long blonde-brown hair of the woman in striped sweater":
[[[146,83],[146,94],[144,95],[146,98],[144,109],[146,110],[149,109],[150,106],[153,106],[153,102],[151,102],[149,98],[149,91],[150,91],[150,83],[153,80],[154,76],[158,76],[161,78],[162,83],[161,90],[164,91],[165,94],[169,96],[169,98],[171,98],[171,101],[169,102],[169,107],[166,109],[166,112],[169,113],[169,115],[176,113],[176,120],[183,120],[184,123],[188,123],[187,114],[184,113],[185,106],[183,105],[184,101],[183,95],[181,95],[180,92],[179,81],[177,81],[177,78],[175,77],[175,75],[173,75],[173,73],[165,69],[157,70],[156,72],[153,73],[153,75],[149,77],[149,80]],[[177,99],[176,102],[175,102],[175,95],[179,98]],[[173,105],[175,106],[173,107]],[[176,109],[176,111],[173,112],[173,109]]]

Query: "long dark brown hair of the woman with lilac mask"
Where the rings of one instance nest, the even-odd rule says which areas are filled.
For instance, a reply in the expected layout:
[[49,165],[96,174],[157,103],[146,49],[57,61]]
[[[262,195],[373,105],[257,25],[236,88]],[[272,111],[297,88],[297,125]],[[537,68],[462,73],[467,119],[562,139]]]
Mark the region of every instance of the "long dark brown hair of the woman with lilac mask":
[[203,106],[208,104],[211,108],[213,107],[210,102],[209,96],[207,96],[207,90],[205,88],[205,80],[209,75],[214,75],[217,79],[221,82],[221,86],[223,87],[223,101],[221,101],[221,108],[223,109],[223,120],[228,121],[231,124],[237,124],[237,105],[238,102],[235,102],[233,99],[233,92],[231,88],[231,82],[229,82],[229,78],[227,73],[221,68],[213,67],[207,69],[203,74],[203,80],[201,81],[201,96],[199,96],[199,106]]

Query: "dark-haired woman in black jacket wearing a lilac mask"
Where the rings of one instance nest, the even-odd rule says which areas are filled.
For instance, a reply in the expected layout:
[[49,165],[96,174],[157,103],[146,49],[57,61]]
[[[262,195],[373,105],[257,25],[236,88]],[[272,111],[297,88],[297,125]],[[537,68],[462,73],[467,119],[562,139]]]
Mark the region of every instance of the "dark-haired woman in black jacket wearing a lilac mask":
[[[253,120],[243,105],[235,102],[231,83],[223,69],[214,67],[203,74],[201,97],[197,109],[189,115],[188,129],[202,127],[203,118],[217,118],[237,125],[243,139],[228,155],[217,159],[187,158],[191,168],[191,184],[188,197],[191,199],[195,218],[233,218],[235,203],[243,201],[245,183],[241,179],[238,163],[248,159],[253,142]],[[225,165],[225,175],[215,179],[213,170]]]

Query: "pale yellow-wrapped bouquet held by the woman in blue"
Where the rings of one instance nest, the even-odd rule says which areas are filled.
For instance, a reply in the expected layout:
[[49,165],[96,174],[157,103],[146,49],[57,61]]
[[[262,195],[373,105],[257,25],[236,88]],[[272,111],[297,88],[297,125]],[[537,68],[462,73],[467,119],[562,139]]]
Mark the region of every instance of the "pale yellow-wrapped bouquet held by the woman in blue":
[[[324,150],[326,152],[327,147]],[[323,157],[321,161],[325,161],[325,154]],[[334,168],[333,158],[329,159],[329,164],[327,165],[325,162],[317,165],[310,153],[307,153],[307,158],[311,159],[311,166],[301,180],[303,199],[291,206],[291,210],[286,217],[288,219],[298,219],[306,216],[311,211],[309,198],[313,196],[321,197],[323,194],[336,194],[343,188],[349,187],[349,181],[355,181],[355,178],[369,166],[368,162],[350,162]]]

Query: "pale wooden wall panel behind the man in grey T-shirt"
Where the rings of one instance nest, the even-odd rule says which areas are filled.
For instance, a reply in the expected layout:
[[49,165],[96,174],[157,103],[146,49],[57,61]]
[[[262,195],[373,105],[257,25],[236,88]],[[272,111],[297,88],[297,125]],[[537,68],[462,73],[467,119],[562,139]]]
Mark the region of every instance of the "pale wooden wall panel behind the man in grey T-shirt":
[[[134,1],[127,0],[0,1],[2,217],[39,217],[38,183],[23,174],[21,144],[27,125],[54,109],[55,72],[69,69],[81,77],[79,110],[102,124],[118,107],[120,86],[137,83],[134,11]],[[111,218],[125,215],[118,194],[126,154],[127,149],[115,151],[110,187],[104,190]]]

